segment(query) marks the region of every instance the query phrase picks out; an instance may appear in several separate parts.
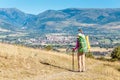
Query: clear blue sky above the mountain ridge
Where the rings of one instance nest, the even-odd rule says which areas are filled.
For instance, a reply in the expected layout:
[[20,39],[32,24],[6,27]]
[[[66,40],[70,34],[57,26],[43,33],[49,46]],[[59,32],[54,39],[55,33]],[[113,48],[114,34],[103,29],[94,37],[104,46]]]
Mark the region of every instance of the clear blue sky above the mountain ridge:
[[120,0],[0,0],[0,8],[17,8],[38,14],[65,8],[120,8]]

